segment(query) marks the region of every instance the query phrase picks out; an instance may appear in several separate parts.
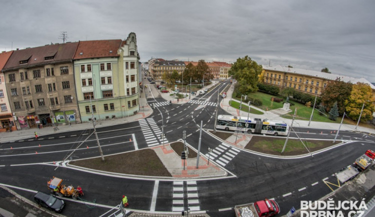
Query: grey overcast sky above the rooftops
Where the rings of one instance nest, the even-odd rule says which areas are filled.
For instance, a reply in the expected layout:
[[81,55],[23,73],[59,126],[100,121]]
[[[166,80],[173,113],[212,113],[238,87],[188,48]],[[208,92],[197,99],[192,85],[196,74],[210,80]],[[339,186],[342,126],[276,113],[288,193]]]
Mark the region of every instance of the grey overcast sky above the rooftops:
[[136,33],[140,61],[234,62],[375,82],[373,0],[0,0],[0,51]]

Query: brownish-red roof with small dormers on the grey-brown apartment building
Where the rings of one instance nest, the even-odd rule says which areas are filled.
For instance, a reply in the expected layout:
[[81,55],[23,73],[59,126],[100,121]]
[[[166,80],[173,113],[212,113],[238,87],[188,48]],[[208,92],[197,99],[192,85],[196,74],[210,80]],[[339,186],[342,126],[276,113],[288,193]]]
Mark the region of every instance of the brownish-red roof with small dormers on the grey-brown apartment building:
[[[6,62],[3,69],[12,70],[21,67],[23,68],[69,61],[72,59],[77,45],[78,42],[69,42],[13,50],[12,55]],[[46,59],[45,57],[51,58]],[[27,61],[25,63],[20,63],[20,61],[23,60]]]

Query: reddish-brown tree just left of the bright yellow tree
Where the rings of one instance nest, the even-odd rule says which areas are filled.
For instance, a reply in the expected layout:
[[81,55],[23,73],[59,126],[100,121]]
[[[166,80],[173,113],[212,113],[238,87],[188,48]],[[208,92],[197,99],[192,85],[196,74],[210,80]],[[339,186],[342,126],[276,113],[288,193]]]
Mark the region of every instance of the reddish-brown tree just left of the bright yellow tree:
[[345,111],[346,102],[351,92],[352,84],[341,81],[339,78],[330,81],[321,96],[322,104],[327,108],[327,111],[337,101],[338,113],[343,114]]

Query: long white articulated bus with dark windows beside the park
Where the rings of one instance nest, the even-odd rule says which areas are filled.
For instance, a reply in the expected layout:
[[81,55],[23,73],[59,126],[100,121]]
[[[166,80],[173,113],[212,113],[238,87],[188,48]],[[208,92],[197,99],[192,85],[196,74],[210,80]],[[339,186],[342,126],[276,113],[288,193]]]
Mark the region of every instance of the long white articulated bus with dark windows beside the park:
[[261,120],[260,118],[218,115],[216,129],[242,131],[248,133],[262,133],[273,135],[287,135],[289,126],[279,120]]

